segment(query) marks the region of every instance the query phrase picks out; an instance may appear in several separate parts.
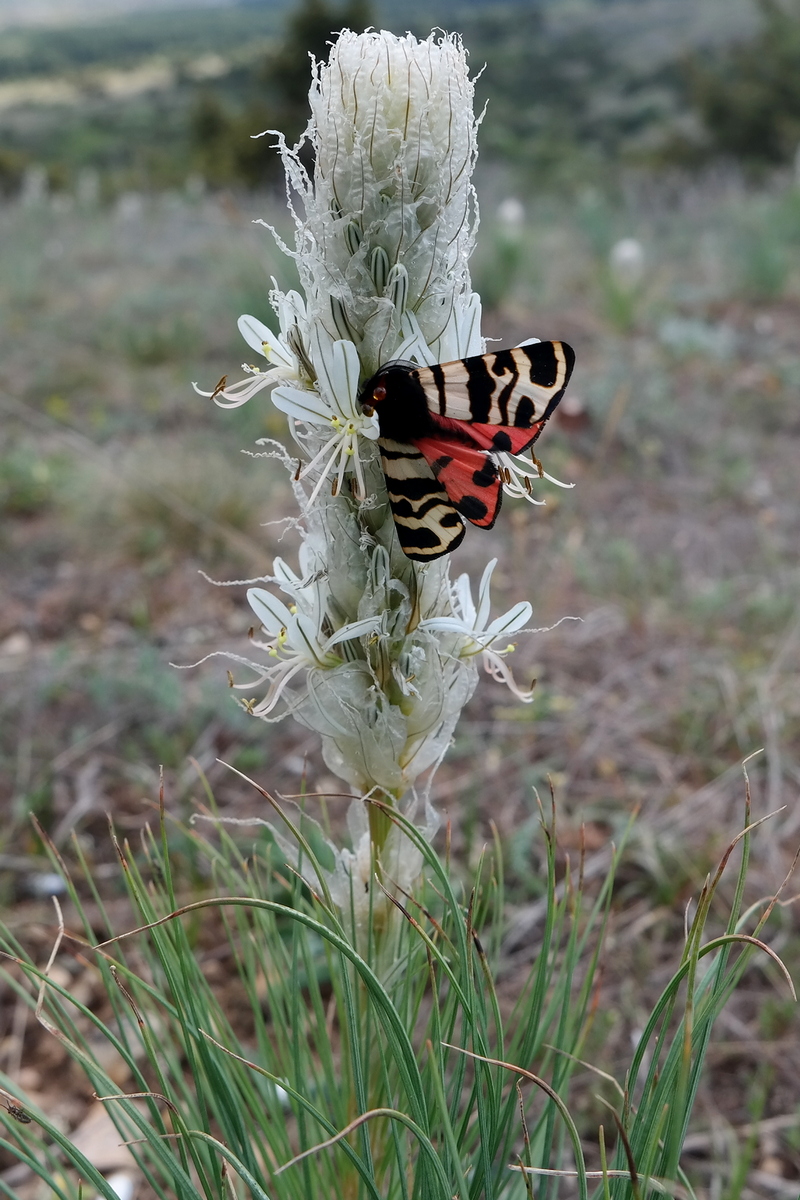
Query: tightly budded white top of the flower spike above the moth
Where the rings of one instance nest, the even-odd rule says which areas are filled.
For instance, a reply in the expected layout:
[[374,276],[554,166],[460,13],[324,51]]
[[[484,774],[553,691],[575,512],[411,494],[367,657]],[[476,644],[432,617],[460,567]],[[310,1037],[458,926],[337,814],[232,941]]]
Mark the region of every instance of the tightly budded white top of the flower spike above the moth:
[[313,178],[279,138],[308,314],[366,376],[396,356],[405,312],[435,354],[471,301],[473,95],[457,37],[344,30],[312,83]]

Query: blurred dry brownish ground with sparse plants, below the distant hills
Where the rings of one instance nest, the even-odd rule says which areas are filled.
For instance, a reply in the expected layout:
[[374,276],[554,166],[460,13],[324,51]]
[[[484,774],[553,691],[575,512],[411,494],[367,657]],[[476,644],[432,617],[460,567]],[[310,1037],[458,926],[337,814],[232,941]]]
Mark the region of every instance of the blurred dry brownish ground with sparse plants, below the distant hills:
[[[498,554],[498,604],[528,596],[542,626],[582,623],[521,642],[533,706],[481,684],[433,798],[465,868],[499,828],[509,994],[541,917],[533,790],[552,779],[563,852],[575,858],[585,823],[596,874],[640,810],[594,1048],[621,1070],[676,962],[684,908],[740,828],[752,751],[763,748],[748,768],[756,815],[782,809],[756,836],[752,899],[775,892],[800,844],[800,193],[638,184],[614,206],[591,192],[540,200],[519,232],[492,206],[475,264],[494,302],[487,332],[576,347],[572,404],[541,442],[547,469],[576,486],[542,487],[545,509],[509,504],[455,568],[480,574]],[[236,377],[248,354],[236,316],[269,319],[270,275],[290,278],[251,224],[275,211],[264,198],[178,196],[0,211],[0,882],[10,923],[41,938],[42,956],[52,917],[30,812],[60,846],[80,839],[113,901],[106,814],[134,838],[160,764],[180,814],[201,796],[190,760],[229,815],[259,812],[259,799],[218,758],[272,791],[337,791],[306,731],[235,707],[224,662],[169,666],[246,642],[243,588],[200,570],[252,577],[290,556],[281,527],[264,526],[289,511],[285,480],[239,452],[279,434],[278,415],[258,400],[221,413],[191,389]],[[628,289],[607,266],[622,236],[644,248]],[[343,804],[332,796],[329,809]],[[795,908],[771,929],[796,967]],[[23,1055],[6,1000],[2,1069],[24,1058],[28,1086],[58,1092],[76,1123],[86,1096],[32,1031]],[[711,1050],[700,1177],[724,1122],[756,1120],[741,1194],[796,1195],[798,1031],[777,976],[752,970]]]

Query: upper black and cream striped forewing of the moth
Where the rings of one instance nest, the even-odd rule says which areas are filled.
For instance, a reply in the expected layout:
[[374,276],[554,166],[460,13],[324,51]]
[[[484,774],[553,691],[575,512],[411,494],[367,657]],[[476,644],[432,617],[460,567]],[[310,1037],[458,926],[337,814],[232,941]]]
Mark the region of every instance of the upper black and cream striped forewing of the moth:
[[534,342],[419,367],[415,376],[428,409],[439,416],[530,430],[558,404],[573,364],[575,352],[565,342]]

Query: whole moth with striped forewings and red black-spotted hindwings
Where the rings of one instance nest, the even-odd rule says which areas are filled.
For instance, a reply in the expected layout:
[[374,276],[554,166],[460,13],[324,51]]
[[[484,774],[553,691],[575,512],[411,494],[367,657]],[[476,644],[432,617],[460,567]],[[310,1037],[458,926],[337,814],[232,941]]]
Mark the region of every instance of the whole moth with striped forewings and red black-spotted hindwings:
[[564,395],[565,342],[420,367],[387,362],[359,395],[378,414],[380,458],[397,536],[409,558],[449,554],[464,520],[491,529],[503,500],[498,452],[528,450]]

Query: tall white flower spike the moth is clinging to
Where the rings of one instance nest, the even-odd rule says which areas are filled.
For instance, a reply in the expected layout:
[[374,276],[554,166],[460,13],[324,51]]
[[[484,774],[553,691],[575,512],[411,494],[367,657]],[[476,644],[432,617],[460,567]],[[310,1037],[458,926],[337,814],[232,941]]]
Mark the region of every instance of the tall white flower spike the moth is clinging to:
[[[235,407],[271,386],[300,455],[299,571],[276,559],[258,581],[272,587],[248,593],[265,662],[239,659],[258,674],[235,686],[265,685],[251,712],[291,713],[320,734],[339,778],[397,799],[441,760],[479,658],[530,698],[504,662],[513,649],[505,638],[530,606],[492,620],[494,562],[475,604],[467,576],[450,582],[446,558],[422,566],[403,554],[377,418],[357,402],[361,380],[389,360],[432,365],[483,352],[468,269],[477,121],[464,50],[445,35],[344,31],[330,61],[314,66],[309,98],[313,175],[278,134],[295,220],[294,248],[281,245],[305,299],[276,288],[277,335],[242,317],[247,344],[269,366],[205,394]],[[529,496],[513,463],[503,466],[509,487]]]

